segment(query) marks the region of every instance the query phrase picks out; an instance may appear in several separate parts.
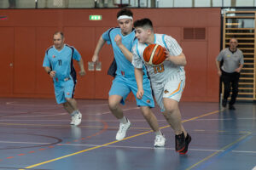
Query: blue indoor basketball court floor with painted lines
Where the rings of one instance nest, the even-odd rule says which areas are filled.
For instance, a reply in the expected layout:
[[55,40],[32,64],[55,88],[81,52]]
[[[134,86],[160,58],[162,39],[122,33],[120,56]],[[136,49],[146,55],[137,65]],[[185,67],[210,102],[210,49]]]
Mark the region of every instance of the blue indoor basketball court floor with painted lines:
[[37,170],[255,170],[256,105],[237,103],[236,111],[218,103],[181,102],[183,126],[192,136],[187,155],[174,149],[171,127],[153,109],[166,136],[154,148],[154,133],[135,102],[123,106],[132,126],[115,140],[119,122],[107,100],[78,100],[83,121],[55,99],[0,99],[0,169]]

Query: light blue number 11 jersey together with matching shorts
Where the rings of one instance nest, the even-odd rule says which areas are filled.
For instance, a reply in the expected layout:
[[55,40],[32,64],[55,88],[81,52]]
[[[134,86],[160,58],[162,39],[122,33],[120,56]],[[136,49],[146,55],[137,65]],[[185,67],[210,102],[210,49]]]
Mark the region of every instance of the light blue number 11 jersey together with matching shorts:
[[55,71],[53,80],[55,99],[58,104],[67,102],[67,98],[73,98],[77,82],[73,59],[79,61],[81,55],[75,48],[68,45],[64,45],[61,51],[52,46],[45,52],[43,66],[48,66],[52,71]]

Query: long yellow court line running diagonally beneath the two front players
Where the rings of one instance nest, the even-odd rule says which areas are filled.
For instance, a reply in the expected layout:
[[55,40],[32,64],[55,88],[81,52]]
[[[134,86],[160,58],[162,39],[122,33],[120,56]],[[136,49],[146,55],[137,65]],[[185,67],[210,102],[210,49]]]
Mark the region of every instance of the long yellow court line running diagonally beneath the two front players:
[[[212,114],[215,114],[215,113],[218,113],[218,112],[220,112],[220,111],[212,111],[212,112],[210,112],[210,113],[206,113],[206,114],[203,114],[203,115],[201,115],[201,116],[195,116],[195,117],[193,117],[193,118],[184,120],[183,122],[193,121],[193,120],[198,119],[198,118],[201,118],[201,117],[203,117],[203,116],[209,116],[209,115],[212,115]],[[170,127],[170,125],[167,125],[167,126],[165,126],[165,127],[160,127],[160,129],[166,128],[166,127]],[[49,163],[49,162],[52,162],[52,161],[61,160],[61,159],[63,159],[63,158],[69,157],[69,156],[75,156],[75,155],[78,155],[78,154],[80,154],[80,153],[84,153],[84,152],[89,151],[89,150],[95,150],[95,149],[97,149],[97,148],[102,148],[102,147],[107,146],[107,145],[109,145],[109,144],[115,144],[115,143],[117,143],[117,142],[120,142],[120,141],[123,141],[123,140],[127,140],[127,139],[131,139],[131,138],[135,138],[135,137],[137,137],[137,136],[141,136],[141,135],[143,135],[143,134],[147,134],[147,133],[151,133],[151,132],[153,132],[153,130],[150,130],[150,131],[147,131],[147,132],[144,132],[144,133],[137,133],[137,134],[135,134],[135,135],[133,135],[133,136],[127,137],[127,138],[122,139],[122,140],[115,140],[115,141],[109,142],[109,143],[107,143],[107,144],[98,145],[98,146],[95,146],[95,147],[92,147],[92,148],[89,148],[89,149],[86,149],[86,150],[80,150],[80,151],[78,151],[78,152],[74,152],[73,154],[69,154],[69,155],[66,155],[66,156],[57,157],[57,158],[51,159],[51,160],[49,160],[49,161],[43,161],[43,162],[41,162],[41,163],[34,164],[34,165],[32,165],[32,166],[29,166],[29,167],[25,167],[25,169],[29,169],[29,168],[32,168],[32,167],[38,167],[38,166],[40,166],[40,165],[44,165],[44,164]],[[19,169],[19,170],[25,170],[25,169]]]

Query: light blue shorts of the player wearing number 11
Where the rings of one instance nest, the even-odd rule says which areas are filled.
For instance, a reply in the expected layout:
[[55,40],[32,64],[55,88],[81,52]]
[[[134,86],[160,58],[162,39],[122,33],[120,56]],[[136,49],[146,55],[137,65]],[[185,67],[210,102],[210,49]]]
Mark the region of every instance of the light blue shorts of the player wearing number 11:
[[65,81],[59,81],[54,83],[55,87],[55,99],[57,104],[66,103],[65,98],[73,98],[75,83],[73,79]]

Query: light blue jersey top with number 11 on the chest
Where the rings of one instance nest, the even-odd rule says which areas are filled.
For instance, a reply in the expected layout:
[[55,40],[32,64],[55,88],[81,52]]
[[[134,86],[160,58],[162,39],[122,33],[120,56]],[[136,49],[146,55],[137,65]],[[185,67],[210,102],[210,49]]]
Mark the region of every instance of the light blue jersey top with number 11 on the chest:
[[65,44],[61,51],[58,51],[52,46],[45,53],[43,66],[55,71],[54,82],[65,81],[66,78],[73,78],[73,81],[76,81],[73,59],[77,61],[81,59],[75,48]]

